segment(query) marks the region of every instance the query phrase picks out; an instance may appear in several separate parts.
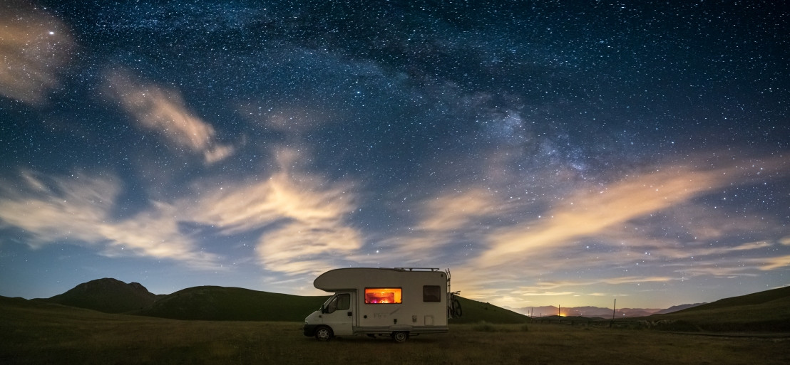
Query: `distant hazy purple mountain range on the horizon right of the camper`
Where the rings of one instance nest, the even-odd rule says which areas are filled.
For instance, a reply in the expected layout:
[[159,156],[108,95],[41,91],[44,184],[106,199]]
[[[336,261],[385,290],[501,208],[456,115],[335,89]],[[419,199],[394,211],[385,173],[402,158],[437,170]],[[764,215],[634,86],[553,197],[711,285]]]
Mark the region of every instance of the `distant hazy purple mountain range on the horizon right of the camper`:
[[[668,307],[666,309],[654,308],[617,308],[615,309],[615,318],[632,318],[632,317],[647,317],[648,315],[660,315],[672,313],[674,311],[682,311],[683,309],[696,307],[705,303],[697,304],[682,304]],[[521,307],[510,308],[511,311],[528,315],[530,317],[545,317],[550,315],[558,315],[558,308],[555,306],[542,306],[542,307]],[[602,307],[561,307],[559,308],[559,315],[564,317],[586,317],[586,318],[611,318],[611,308]]]

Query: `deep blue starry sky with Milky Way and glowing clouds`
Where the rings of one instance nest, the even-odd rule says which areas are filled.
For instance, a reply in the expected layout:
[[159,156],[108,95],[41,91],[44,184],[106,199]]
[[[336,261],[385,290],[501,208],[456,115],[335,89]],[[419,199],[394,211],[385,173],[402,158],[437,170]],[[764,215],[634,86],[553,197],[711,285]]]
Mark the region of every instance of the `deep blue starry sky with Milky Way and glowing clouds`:
[[0,295],[319,295],[450,268],[509,307],[790,284],[773,1],[0,0]]

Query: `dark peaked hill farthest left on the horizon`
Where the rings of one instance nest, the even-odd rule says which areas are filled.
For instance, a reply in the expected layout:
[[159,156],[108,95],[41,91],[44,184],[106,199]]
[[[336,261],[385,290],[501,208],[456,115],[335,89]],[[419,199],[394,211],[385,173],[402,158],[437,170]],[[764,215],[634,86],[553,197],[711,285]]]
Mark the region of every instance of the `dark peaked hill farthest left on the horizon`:
[[105,313],[123,313],[149,307],[156,301],[156,298],[156,294],[149,292],[140,283],[126,284],[123,281],[105,277],[82,283],[67,292],[42,301]]

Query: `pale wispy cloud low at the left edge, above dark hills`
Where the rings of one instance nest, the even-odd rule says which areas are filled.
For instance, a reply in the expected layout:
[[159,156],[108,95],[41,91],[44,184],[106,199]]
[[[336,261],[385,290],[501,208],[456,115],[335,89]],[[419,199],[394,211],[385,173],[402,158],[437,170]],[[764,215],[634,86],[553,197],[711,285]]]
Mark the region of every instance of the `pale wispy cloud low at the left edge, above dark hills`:
[[65,178],[29,171],[21,175],[21,189],[3,188],[0,222],[24,229],[33,248],[66,241],[96,248],[107,256],[146,256],[215,267],[213,257],[179,233],[167,205],[114,220],[112,210],[121,190],[117,177],[75,174]]

